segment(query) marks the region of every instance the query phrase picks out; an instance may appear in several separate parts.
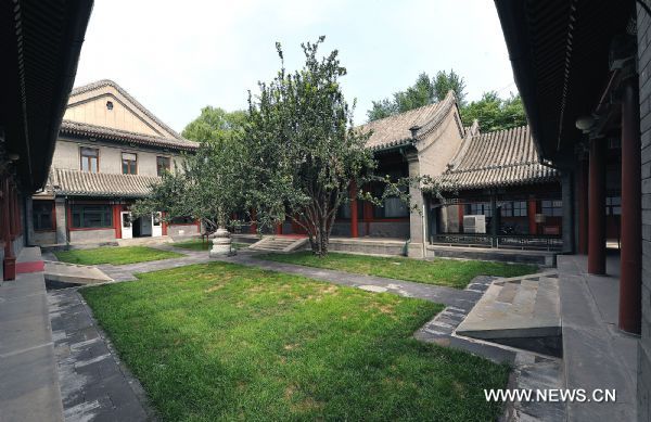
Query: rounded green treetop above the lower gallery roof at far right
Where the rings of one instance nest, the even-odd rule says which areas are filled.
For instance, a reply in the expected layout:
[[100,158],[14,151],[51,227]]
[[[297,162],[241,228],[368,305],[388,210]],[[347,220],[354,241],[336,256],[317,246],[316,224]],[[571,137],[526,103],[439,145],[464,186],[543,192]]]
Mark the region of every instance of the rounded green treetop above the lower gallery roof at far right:
[[501,99],[496,91],[484,92],[480,100],[468,104],[461,111],[461,119],[465,126],[478,120],[480,129],[484,132],[526,125],[520,95],[511,94],[508,99]]

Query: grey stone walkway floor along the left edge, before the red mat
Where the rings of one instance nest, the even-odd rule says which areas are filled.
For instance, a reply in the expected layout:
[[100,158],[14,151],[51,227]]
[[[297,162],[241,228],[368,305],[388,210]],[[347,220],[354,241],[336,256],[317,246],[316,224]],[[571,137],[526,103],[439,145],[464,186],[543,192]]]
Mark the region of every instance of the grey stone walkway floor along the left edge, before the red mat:
[[[39,248],[18,259],[39,260]],[[63,421],[42,271],[0,286],[0,421]]]

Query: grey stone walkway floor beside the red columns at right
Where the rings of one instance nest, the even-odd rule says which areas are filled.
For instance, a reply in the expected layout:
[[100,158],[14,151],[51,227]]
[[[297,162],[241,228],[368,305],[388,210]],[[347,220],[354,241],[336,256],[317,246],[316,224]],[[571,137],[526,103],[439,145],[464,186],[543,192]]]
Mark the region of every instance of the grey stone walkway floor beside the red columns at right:
[[617,329],[620,258],[608,276],[586,272],[587,257],[559,256],[565,388],[615,389],[615,402],[569,402],[571,421],[635,421],[638,338]]

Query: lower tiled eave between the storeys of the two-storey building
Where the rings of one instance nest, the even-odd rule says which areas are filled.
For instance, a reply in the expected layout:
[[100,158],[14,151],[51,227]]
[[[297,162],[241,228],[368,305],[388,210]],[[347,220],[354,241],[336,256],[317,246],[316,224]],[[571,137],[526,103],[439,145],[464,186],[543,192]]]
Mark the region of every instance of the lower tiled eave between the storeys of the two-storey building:
[[54,195],[143,197],[151,193],[159,177],[114,175],[54,168],[50,171],[48,190]]

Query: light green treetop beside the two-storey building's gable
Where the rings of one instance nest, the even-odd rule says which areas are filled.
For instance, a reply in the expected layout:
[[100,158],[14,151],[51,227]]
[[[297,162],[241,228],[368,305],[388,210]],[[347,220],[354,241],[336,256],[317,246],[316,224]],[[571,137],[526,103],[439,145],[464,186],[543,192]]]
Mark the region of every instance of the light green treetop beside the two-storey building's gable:
[[207,105],[201,114],[190,122],[182,131],[182,137],[196,142],[206,142],[241,132],[246,123],[246,112],[227,112],[220,107]]

